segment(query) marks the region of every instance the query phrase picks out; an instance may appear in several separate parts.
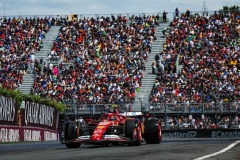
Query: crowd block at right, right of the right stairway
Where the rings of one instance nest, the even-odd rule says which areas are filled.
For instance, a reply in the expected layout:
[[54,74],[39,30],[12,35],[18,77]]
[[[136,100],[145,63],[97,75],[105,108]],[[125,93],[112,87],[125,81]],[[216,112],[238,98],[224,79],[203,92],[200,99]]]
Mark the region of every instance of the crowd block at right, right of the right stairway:
[[[151,102],[240,101],[240,13],[181,14],[156,55]],[[160,58],[163,61],[160,61]],[[183,68],[178,72],[176,66]]]

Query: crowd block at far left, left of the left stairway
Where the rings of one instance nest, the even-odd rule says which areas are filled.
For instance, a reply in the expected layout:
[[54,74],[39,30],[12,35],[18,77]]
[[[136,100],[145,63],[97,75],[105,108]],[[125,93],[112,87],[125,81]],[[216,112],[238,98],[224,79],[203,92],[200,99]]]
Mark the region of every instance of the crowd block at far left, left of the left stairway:
[[0,19],[0,84],[17,89],[50,28],[48,18]]

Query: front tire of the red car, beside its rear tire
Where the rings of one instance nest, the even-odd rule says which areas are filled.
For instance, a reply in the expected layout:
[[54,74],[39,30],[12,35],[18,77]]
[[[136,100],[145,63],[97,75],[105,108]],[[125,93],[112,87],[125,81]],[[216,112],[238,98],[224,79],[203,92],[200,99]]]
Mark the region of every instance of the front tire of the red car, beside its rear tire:
[[130,138],[131,142],[128,145],[139,146],[141,145],[142,132],[138,120],[130,119],[125,122],[125,135]]

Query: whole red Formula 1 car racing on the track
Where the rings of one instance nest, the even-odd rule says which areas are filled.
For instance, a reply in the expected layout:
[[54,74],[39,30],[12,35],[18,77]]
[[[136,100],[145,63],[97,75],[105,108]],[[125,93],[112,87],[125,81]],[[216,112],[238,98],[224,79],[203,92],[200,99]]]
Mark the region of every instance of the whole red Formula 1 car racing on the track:
[[[141,117],[141,118],[137,118]],[[81,124],[67,122],[61,136],[61,143],[68,148],[78,148],[82,143],[109,145],[126,143],[138,146],[146,143],[160,143],[161,122],[156,118],[145,118],[141,112],[106,113],[97,121]]]

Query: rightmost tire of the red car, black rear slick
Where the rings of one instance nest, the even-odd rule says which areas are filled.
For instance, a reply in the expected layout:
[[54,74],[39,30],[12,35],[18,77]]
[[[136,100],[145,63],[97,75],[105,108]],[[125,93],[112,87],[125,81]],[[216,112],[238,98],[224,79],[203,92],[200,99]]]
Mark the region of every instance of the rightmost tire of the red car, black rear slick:
[[162,141],[161,123],[156,119],[148,119],[144,123],[144,139],[149,144],[158,144]]

